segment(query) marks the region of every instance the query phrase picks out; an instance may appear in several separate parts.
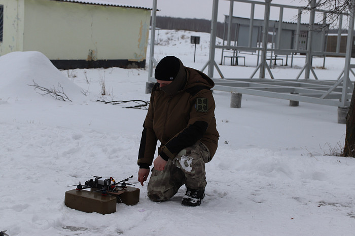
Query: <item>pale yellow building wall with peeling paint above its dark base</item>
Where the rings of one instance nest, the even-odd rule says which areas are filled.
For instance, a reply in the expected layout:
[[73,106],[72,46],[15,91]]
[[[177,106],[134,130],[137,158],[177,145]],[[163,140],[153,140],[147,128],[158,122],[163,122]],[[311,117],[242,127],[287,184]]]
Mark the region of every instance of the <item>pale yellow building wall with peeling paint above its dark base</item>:
[[58,68],[145,66],[150,10],[50,0],[1,2],[11,9],[11,20],[4,22],[11,29],[4,29],[10,51],[42,52]]

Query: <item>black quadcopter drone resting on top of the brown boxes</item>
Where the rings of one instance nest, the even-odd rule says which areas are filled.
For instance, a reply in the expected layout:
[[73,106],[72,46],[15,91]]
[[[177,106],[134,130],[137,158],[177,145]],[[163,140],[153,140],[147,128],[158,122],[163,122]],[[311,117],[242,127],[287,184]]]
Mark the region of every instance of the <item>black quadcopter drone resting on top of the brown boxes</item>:
[[115,179],[112,177],[102,178],[101,176],[92,176],[95,177],[95,179],[90,179],[86,181],[85,184],[81,184],[79,182],[78,185],[70,185],[68,187],[77,186],[77,190],[82,190],[86,188],[90,188],[92,190],[97,189],[94,190],[94,192],[101,191],[101,193],[105,195],[107,193],[118,193],[119,191],[124,191],[125,188],[127,188],[127,185],[134,185],[126,183],[126,181],[128,181],[130,178],[133,178],[133,175],[119,182],[116,182]]

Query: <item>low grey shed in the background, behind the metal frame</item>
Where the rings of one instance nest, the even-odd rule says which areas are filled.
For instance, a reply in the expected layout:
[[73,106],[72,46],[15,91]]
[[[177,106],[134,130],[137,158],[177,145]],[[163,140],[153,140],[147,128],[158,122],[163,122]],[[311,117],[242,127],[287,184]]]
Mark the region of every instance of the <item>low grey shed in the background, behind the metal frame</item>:
[[[251,21],[253,21],[253,23],[251,23]],[[229,24],[232,25],[230,26]],[[253,25],[252,34],[250,34],[251,24]],[[262,49],[261,35],[263,32],[263,24],[264,24],[264,20],[261,19],[250,19],[250,18],[233,16],[232,20],[230,20],[229,16],[225,15],[223,46],[225,46],[226,41],[228,42],[228,40],[230,40],[231,41],[230,45],[236,47],[233,47],[233,50],[226,50],[226,51],[225,48],[222,48],[221,65],[222,65],[222,61],[224,61],[226,57],[227,58],[232,57],[232,61],[233,61],[233,59],[238,58],[237,57],[238,53],[243,51],[249,53],[251,52],[252,54],[253,52],[257,51],[257,55],[258,55],[257,65],[258,65],[260,50]],[[231,33],[226,35],[227,29],[229,30],[234,29],[234,35],[232,38],[230,38]],[[270,48],[269,45],[267,51],[269,53],[268,57],[270,60],[269,66],[270,67],[272,66],[271,62],[273,60],[273,55],[275,57],[274,58],[275,62],[277,56],[279,55],[286,56],[286,60],[288,56],[291,56],[291,67],[292,67],[294,55],[306,54],[306,42],[307,42],[306,40],[308,35],[308,29],[309,29],[309,25],[306,23],[297,24],[294,22],[281,22],[280,24],[280,22],[277,20],[269,20],[268,33],[269,36],[272,36],[271,49],[269,49]],[[324,22],[323,24],[316,24],[316,28],[312,32],[313,55],[324,57],[324,63],[325,63],[325,57],[328,55],[345,56],[345,53],[342,54],[340,54],[339,52],[333,53],[333,52],[328,52],[326,50],[328,31],[329,31],[329,24],[326,24],[326,22]],[[228,36],[228,40],[227,40],[227,36]],[[234,41],[233,44],[232,44],[232,39]],[[255,50],[256,48],[259,48],[260,50]],[[226,55],[224,54],[224,52],[226,52],[225,53]],[[233,56],[230,55],[231,52],[233,52]],[[283,61],[283,59],[281,58],[278,58],[278,60]]]

